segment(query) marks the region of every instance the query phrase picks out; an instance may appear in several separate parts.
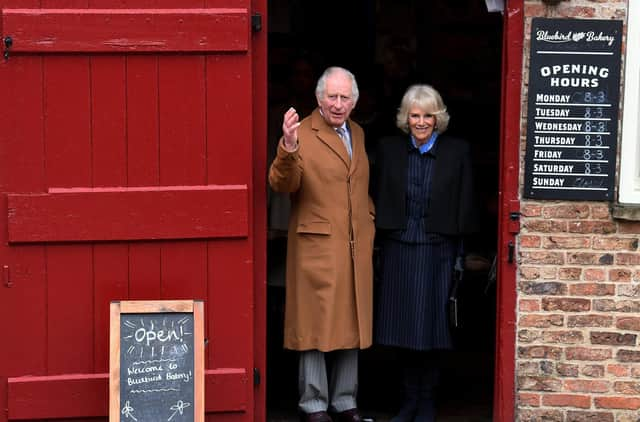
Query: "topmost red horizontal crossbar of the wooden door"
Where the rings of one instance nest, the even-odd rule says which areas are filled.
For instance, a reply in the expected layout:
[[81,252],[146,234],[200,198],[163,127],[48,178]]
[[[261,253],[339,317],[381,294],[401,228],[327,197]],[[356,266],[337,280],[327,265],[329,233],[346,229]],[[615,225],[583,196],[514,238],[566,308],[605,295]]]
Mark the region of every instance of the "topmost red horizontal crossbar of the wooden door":
[[12,51],[244,52],[247,9],[4,9]]

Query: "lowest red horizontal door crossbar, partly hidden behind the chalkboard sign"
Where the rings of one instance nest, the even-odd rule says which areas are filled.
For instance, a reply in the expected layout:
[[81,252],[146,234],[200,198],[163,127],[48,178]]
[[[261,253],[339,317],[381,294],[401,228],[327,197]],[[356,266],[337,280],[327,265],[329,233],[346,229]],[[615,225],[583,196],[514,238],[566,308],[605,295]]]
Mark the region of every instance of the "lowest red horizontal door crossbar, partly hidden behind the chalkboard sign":
[[[247,409],[251,379],[243,368],[206,371],[204,382],[205,412]],[[108,373],[9,378],[7,390],[11,420],[104,417],[109,412]]]

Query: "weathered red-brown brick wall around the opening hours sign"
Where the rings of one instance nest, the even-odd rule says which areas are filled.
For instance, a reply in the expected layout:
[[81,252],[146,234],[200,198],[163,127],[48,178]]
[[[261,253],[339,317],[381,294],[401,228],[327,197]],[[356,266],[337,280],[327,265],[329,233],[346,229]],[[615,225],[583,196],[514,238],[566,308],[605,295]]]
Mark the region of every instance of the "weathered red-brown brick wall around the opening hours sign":
[[[525,65],[532,17],[625,20],[626,7],[525,1]],[[523,83],[523,106],[526,95]],[[526,109],[522,116],[524,158]],[[521,211],[517,420],[639,421],[640,222],[612,218],[605,202],[523,199]]]

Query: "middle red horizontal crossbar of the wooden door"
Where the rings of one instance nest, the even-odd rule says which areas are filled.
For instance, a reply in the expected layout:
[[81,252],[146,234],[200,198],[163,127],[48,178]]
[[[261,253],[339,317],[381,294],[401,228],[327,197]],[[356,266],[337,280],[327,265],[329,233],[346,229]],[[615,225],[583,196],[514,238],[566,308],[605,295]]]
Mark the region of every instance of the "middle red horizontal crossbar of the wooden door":
[[10,242],[242,237],[245,186],[52,189],[9,195]]

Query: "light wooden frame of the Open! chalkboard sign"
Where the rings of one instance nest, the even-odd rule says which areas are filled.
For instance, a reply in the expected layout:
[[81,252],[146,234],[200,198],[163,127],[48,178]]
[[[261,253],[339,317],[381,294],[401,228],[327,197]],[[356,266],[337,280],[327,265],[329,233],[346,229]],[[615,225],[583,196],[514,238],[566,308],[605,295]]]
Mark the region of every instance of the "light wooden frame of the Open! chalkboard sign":
[[110,309],[109,422],[120,421],[120,316],[146,313],[193,314],[194,421],[204,422],[204,304],[195,300],[112,302]]

